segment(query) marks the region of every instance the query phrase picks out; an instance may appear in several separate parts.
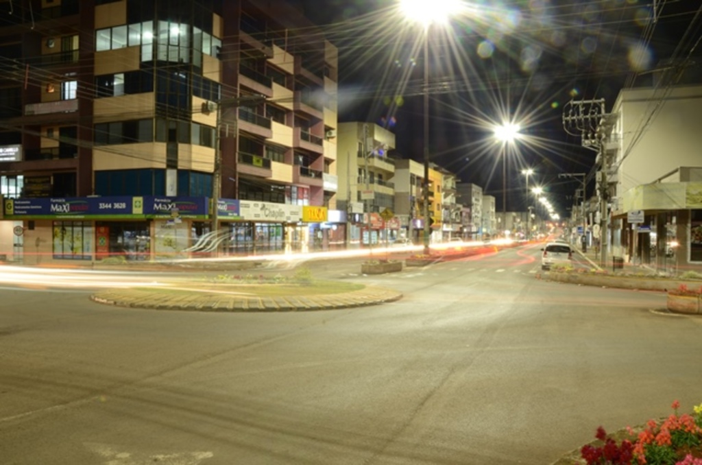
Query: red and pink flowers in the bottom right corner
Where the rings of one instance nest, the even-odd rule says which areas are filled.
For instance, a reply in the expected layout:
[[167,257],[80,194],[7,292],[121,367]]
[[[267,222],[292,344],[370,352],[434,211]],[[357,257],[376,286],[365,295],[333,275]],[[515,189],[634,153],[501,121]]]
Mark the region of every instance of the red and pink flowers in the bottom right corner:
[[702,465],[702,404],[693,414],[678,415],[680,402],[673,402],[673,414],[649,420],[639,428],[608,435],[597,428],[597,441],[580,449],[578,459],[565,458],[556,464],[587,465]]

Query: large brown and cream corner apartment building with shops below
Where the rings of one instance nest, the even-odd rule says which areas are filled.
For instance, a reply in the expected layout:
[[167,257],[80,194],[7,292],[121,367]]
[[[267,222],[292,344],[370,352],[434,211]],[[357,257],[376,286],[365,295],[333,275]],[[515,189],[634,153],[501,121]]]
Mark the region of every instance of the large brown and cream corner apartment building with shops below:
[[15,8],[1,247],[21,232],[31,263],[174,254],[213,230],[232,252],[333,242],[337,51],[311,30],[284,1]]

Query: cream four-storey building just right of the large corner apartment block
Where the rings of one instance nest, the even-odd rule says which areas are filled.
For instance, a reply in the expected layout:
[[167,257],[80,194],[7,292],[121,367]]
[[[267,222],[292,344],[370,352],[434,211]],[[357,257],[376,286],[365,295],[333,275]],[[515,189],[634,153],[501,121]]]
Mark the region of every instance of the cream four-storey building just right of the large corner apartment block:
[[[395,134],[377,124],[338,125],[338,204],[347,211],[348,242],[364,244],[394,237],[398,221],[383,221],[380,213],[395,208]],[[392,218],[390,218],[392,219]],[[364,233],[365,232],[365,233]]]

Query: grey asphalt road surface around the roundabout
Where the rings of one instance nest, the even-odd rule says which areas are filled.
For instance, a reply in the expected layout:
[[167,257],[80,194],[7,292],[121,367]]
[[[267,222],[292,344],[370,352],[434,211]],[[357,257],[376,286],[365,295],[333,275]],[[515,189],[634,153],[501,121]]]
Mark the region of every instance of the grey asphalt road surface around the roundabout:
[[540,280],[538,247],[384,276],[310,267],[405,296],[190,313],[4,287],[2,463],[549,464],[597,426],[702,401],[702,320]]

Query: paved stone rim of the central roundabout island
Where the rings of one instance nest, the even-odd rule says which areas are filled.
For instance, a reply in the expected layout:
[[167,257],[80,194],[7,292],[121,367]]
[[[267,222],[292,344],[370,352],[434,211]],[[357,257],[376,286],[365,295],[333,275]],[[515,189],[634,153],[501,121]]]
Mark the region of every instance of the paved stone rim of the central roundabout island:
[[309,310],[336,310],[373,306],[397,301],[402,292],[381,287],[369,287],[354,292],[322,294],[319,296],[240,296],[232,294],[178,294],[149,289],[110,289],[91,295],[91,300],[128,308],[152,310],[190,310],[206,312],[291,312]]

